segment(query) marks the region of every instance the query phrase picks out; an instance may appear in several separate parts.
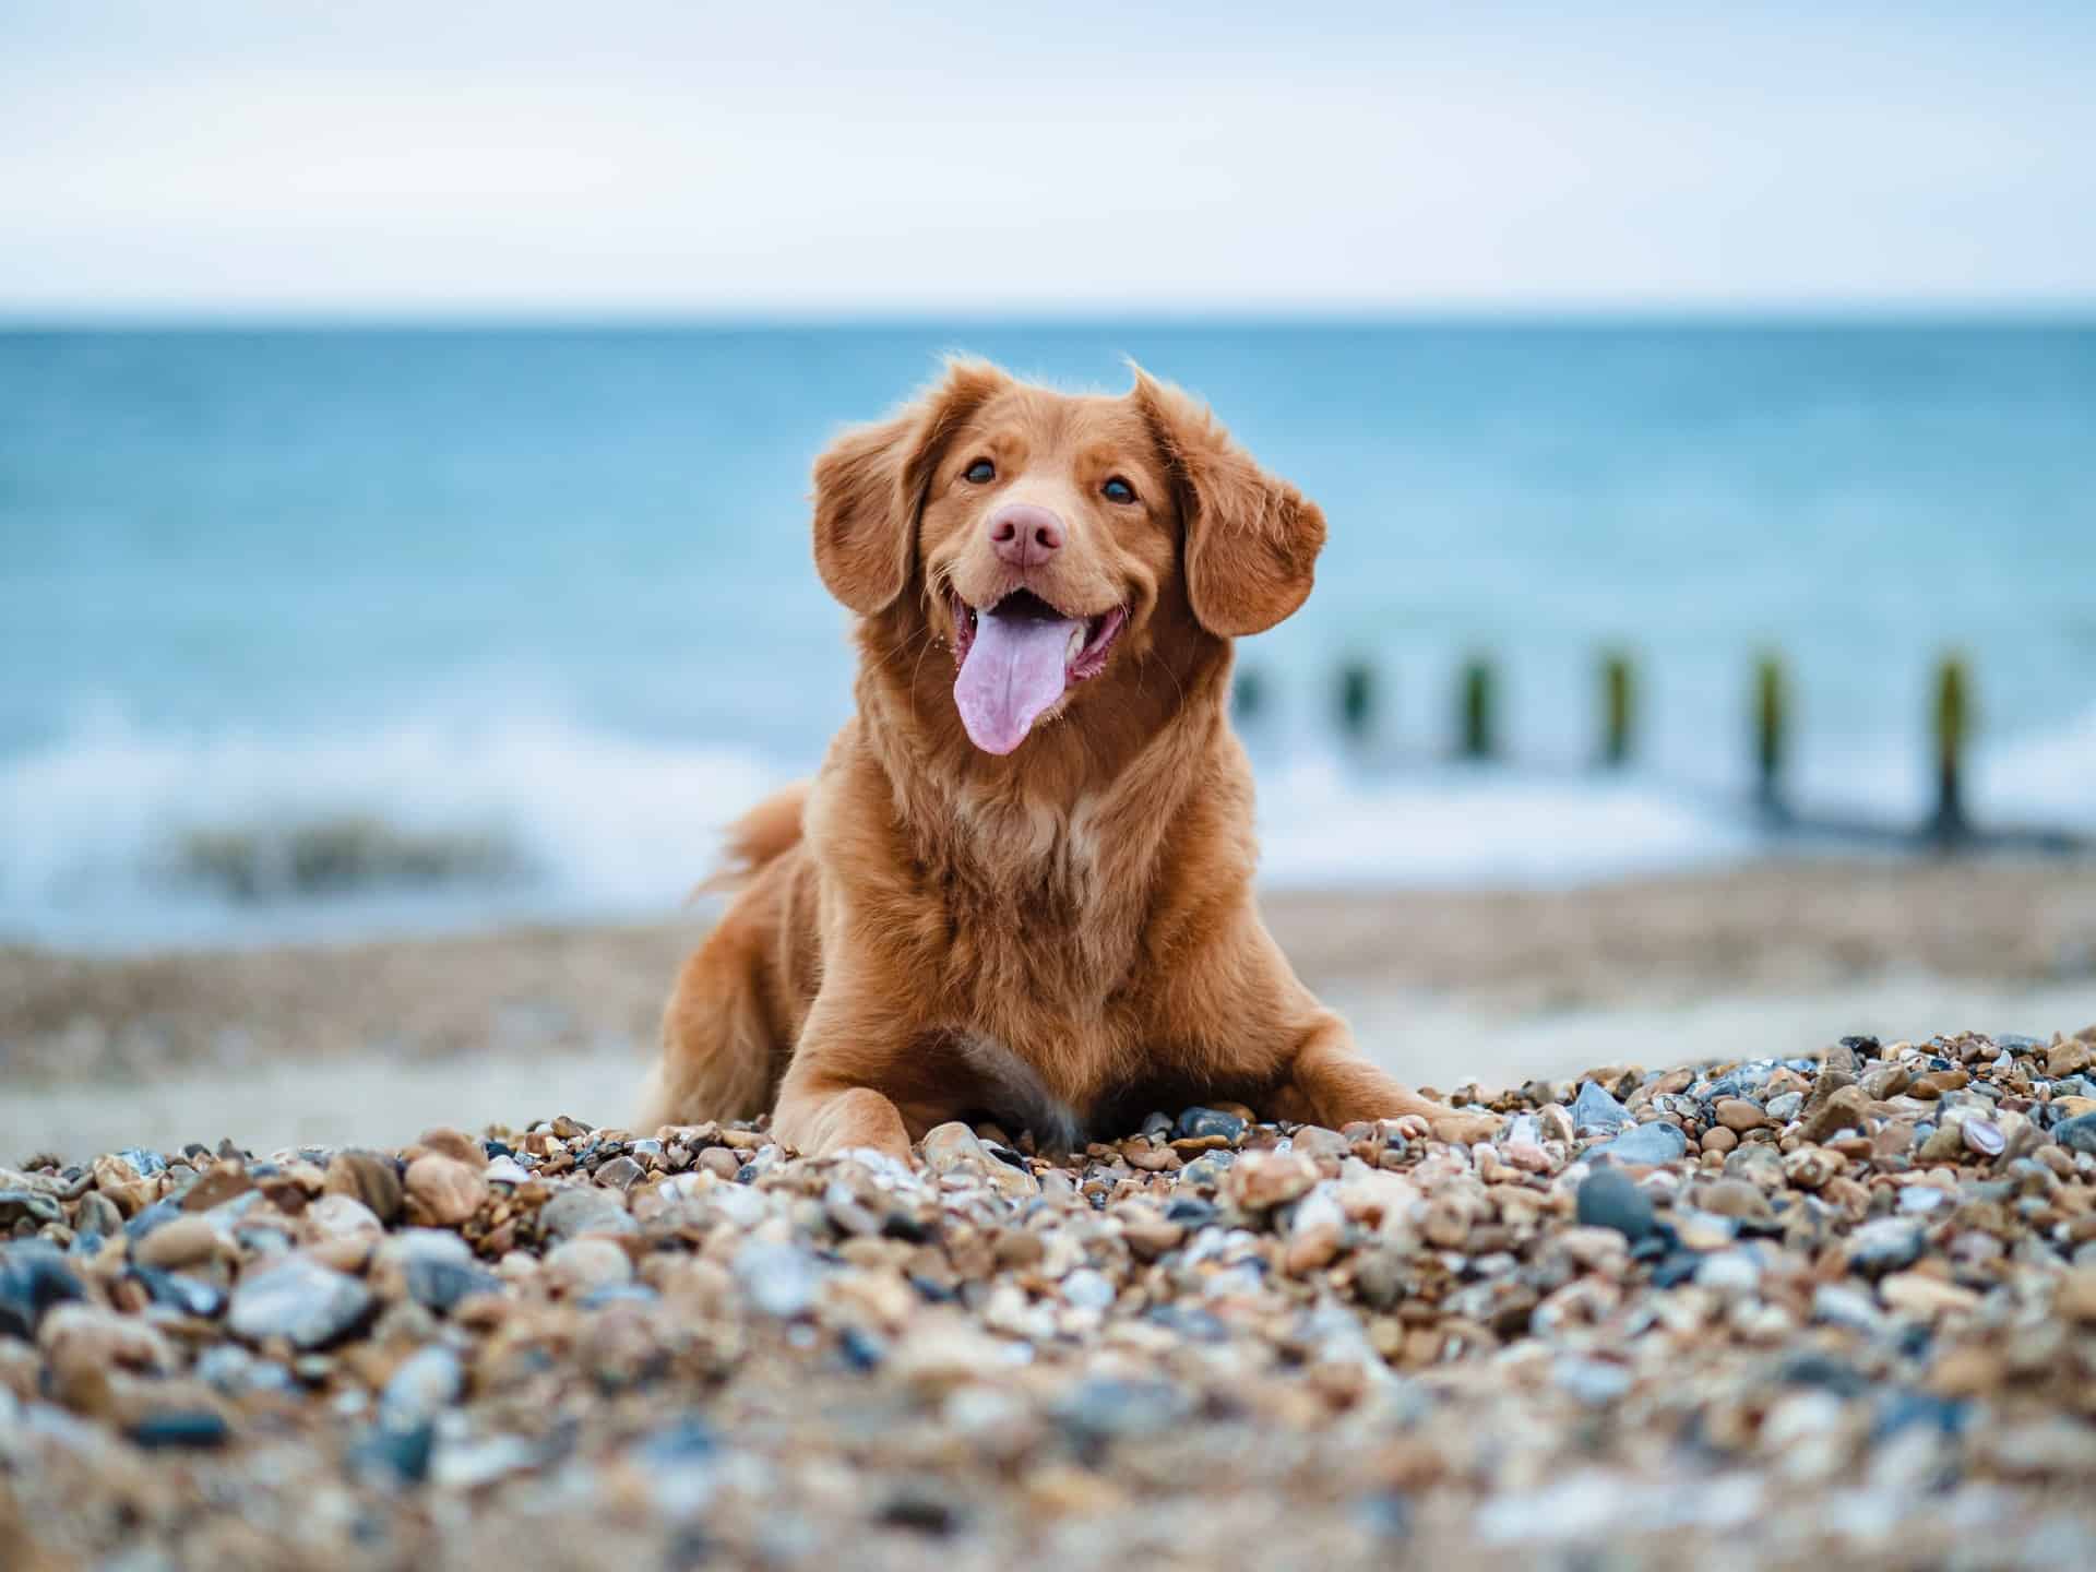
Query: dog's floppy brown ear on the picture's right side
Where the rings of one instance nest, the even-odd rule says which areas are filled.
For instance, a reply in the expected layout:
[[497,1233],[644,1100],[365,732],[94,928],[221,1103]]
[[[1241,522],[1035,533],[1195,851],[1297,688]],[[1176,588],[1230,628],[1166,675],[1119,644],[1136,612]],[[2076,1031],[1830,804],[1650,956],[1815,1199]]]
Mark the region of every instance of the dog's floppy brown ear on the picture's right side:
[[1253,463],[1205,405],[1134,371],[1132,398],[1180,493],[1193,614],[1226,639],[1264,633],[1310,595],[1325,514]]

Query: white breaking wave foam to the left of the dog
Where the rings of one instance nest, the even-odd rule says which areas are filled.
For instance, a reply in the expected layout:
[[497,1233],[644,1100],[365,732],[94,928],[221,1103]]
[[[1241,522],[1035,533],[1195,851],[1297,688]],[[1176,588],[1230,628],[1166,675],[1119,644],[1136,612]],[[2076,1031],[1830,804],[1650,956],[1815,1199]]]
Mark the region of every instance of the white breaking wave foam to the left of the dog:
[[[669,912],[713,864],[721,826],[788,773],[732,748],[543,717],[293,736],[92,717],[0,761],[0,933],[151,943]],[[182,876],[199,838],[283,845],[337,824],[503,847],[516,868],[490,870],[480,889],[381,880],[350,897],[247,903]]]

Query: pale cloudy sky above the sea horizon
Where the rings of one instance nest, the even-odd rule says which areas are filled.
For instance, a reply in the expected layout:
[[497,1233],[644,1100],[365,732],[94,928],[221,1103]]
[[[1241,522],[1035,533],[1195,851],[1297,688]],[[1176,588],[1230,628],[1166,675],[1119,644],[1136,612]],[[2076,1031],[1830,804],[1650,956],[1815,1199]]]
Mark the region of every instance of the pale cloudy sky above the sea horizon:
[[0,316],[2083,312],[2092,63],[2054,0],[8,0]]

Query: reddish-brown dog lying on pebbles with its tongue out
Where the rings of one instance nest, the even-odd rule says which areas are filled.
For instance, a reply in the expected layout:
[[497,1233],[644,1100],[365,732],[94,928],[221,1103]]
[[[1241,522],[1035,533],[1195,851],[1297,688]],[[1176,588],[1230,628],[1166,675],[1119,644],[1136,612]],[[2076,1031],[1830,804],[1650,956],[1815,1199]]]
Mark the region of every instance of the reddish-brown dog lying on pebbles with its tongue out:
[[1230,639],[1304,604],[1323,545],[1140,371],[1075,398],[956,363],[840,438],[815,568],[859,614],[859,713],[736,828],[641,1126],[771,1109],[803,1153],[905,1157],[964,1113],[1067,1147],[1228,1098],[1488,1132],[1360,1058],[1253,910]]

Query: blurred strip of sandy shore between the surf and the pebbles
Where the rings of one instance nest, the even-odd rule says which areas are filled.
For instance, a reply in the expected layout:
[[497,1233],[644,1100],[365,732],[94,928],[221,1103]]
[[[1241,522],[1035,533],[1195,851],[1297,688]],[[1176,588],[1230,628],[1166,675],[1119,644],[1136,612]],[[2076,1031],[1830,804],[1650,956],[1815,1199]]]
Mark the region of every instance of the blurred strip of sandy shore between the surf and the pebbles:
[[[1304,979],[1400,1075],[2046,1035],[2096,1021],[2096,868],[1784,861],[1578,891],[1276,893]],[[0,1161],[233,1136],[405,1142],[432,1123],[618,1123],[708,912],[352,945],[0,949]]]

